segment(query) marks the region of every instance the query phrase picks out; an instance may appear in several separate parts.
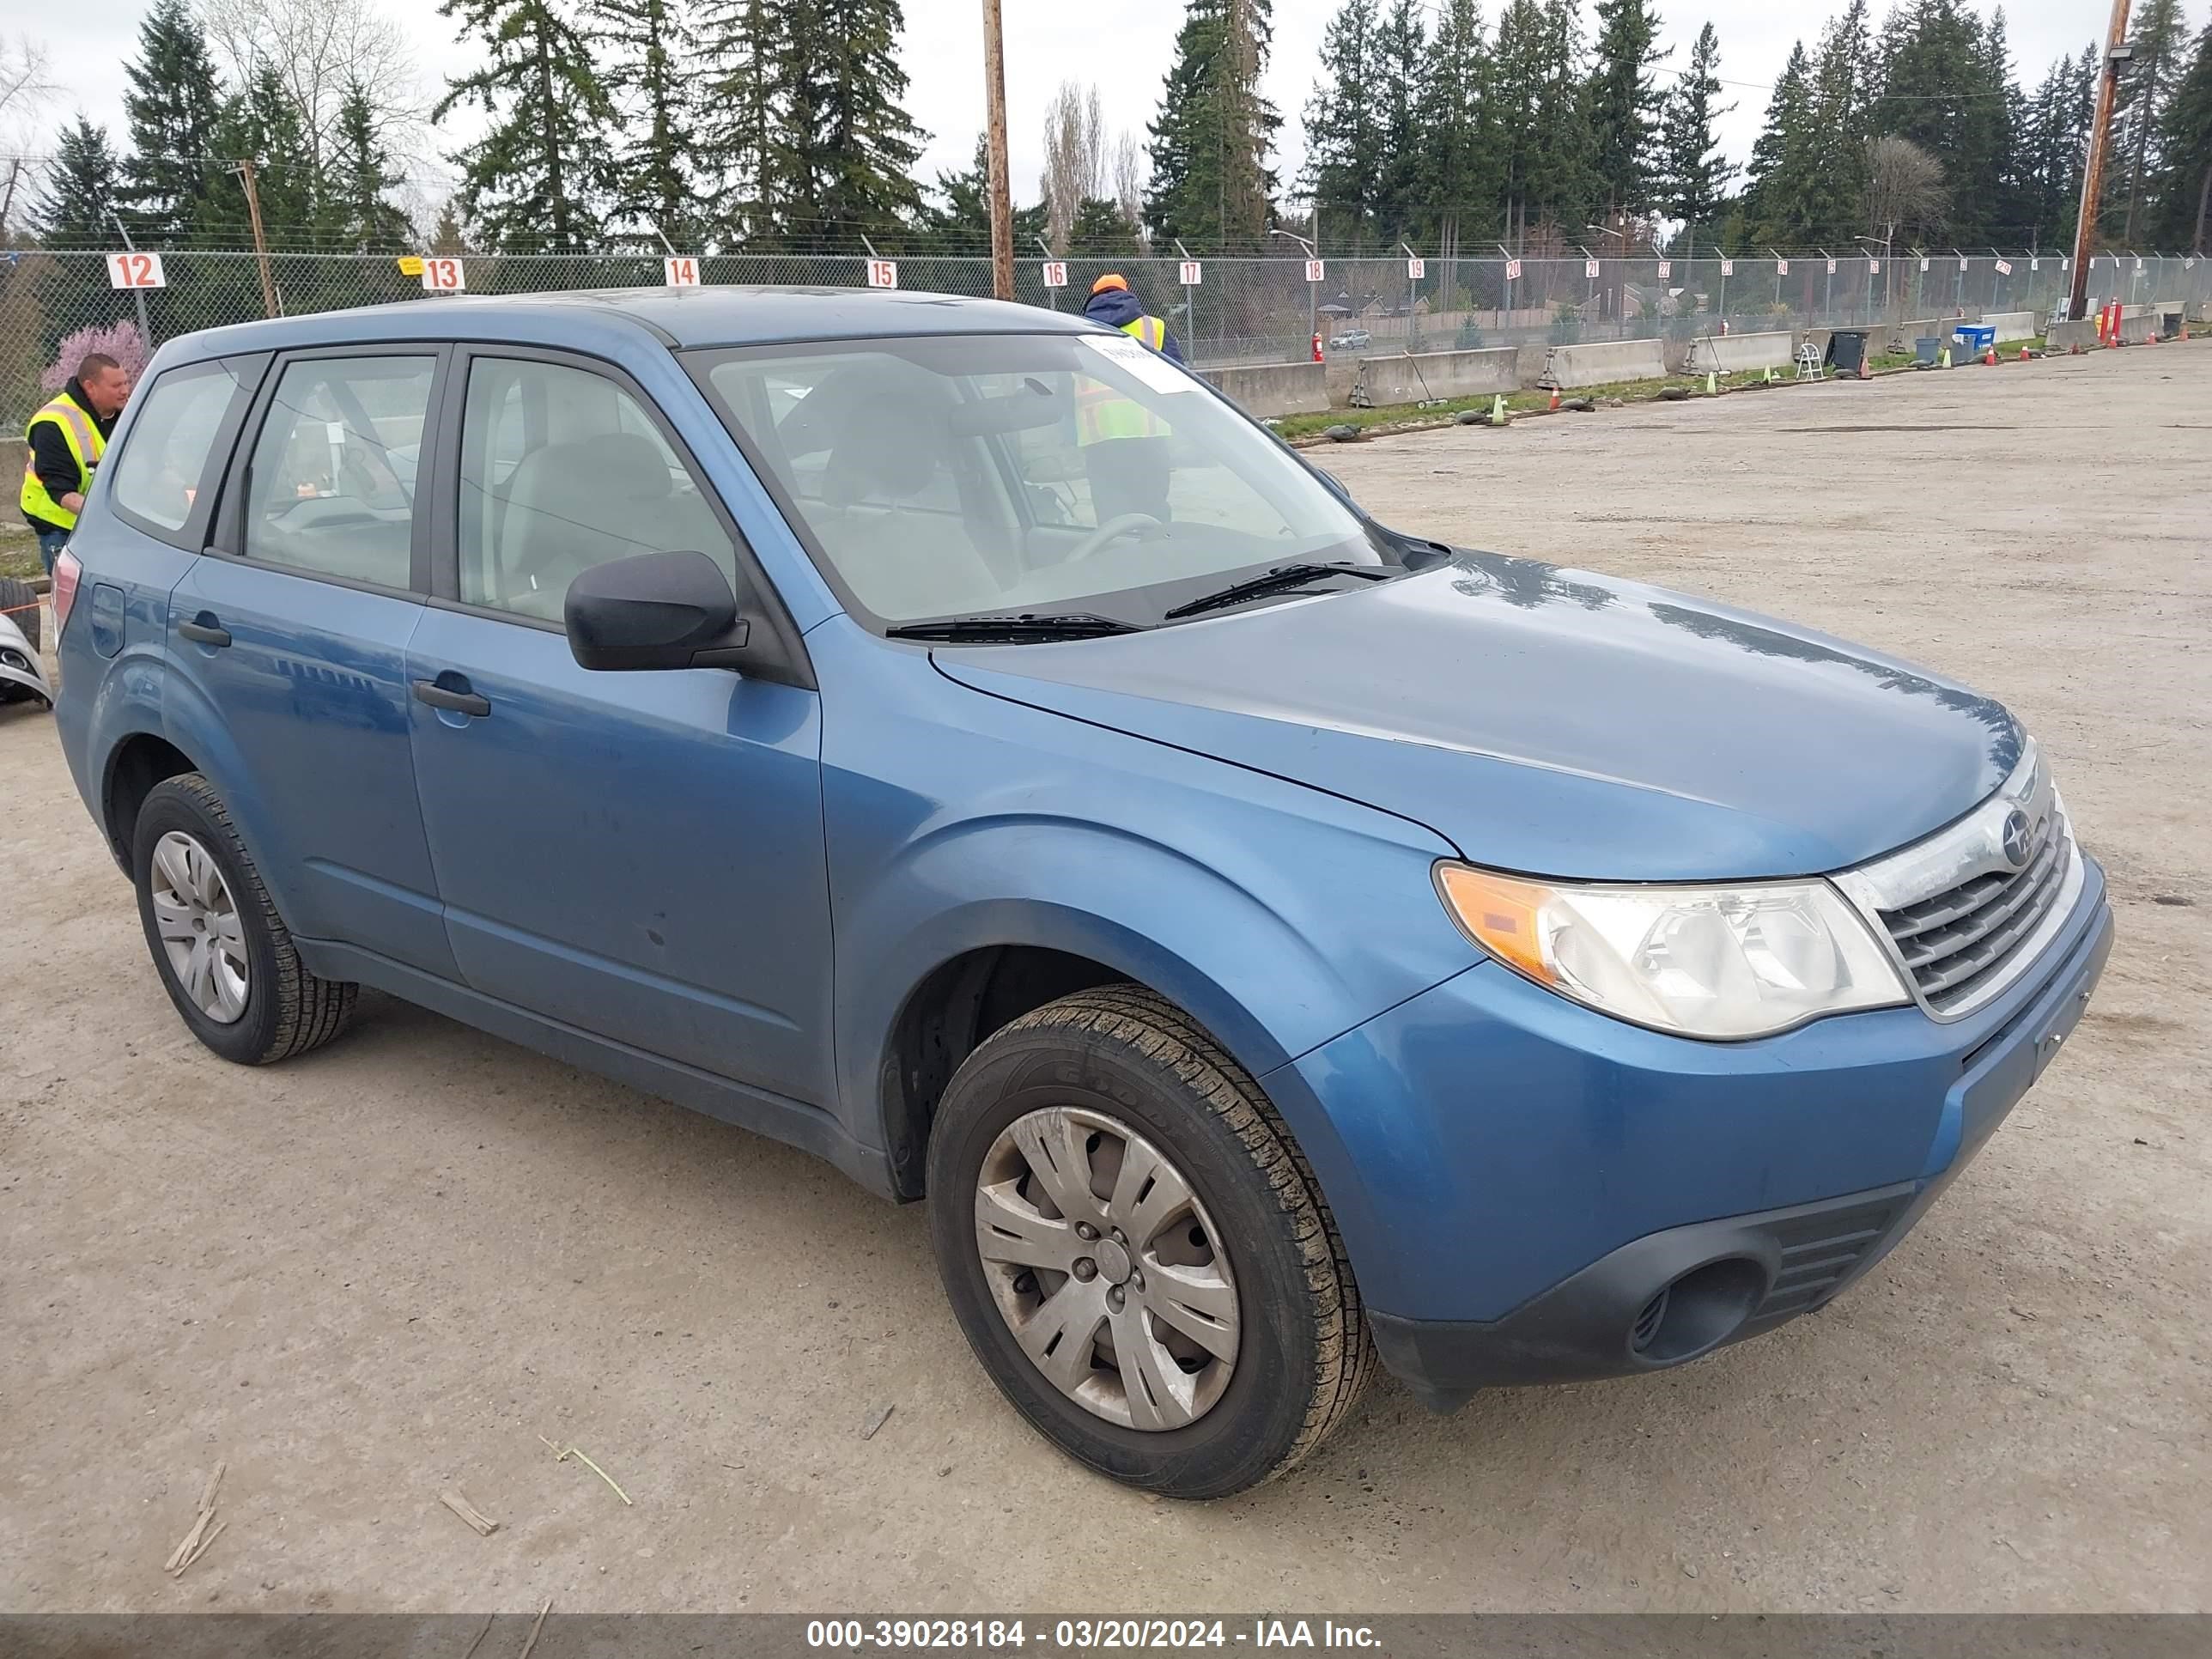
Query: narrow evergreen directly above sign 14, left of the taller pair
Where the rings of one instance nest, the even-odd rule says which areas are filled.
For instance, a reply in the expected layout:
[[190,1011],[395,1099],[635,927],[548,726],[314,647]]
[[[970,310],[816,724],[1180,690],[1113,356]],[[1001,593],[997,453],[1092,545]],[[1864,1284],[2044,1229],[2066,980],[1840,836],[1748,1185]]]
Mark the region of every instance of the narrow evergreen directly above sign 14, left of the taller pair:
[[697,42],[684,0],[593,0],[593,38],[606,51],[606,95],[628,117],[615,150],[608,226],[659,237],[677,248],[699,241],[692,177],[692,66]]

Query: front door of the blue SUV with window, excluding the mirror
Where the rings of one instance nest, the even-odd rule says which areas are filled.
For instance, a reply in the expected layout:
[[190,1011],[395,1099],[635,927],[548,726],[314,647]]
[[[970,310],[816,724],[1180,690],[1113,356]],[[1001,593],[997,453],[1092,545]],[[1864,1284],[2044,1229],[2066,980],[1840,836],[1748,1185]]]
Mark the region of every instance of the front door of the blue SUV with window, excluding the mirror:
[[588,672],[560,630],[568,582],[608,560],[699,551],[743,584],[734,524],[611,369],[478,354],[458,425],[453,597],[407,675],[465,980],[827,1106],[818,697],[719,668]]

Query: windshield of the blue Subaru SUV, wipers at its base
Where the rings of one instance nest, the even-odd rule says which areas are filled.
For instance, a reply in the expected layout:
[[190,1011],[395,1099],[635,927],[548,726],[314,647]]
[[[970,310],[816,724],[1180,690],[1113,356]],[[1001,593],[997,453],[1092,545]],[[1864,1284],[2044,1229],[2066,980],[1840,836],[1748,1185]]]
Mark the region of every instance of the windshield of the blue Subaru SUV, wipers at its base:
[[695,363],[816,562],[880,624],[1009,611],[1155,624],[1237,573],[1387,562],[1290,451],[1128,336]]

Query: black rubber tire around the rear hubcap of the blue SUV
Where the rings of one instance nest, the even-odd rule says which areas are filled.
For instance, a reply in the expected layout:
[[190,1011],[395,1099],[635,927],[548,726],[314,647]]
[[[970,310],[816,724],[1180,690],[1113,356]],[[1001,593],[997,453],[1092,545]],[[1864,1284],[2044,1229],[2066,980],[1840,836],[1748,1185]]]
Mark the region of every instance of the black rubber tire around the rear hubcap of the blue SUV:
[[[168,832],[192,836],[215,858],[230,887],[246,940],[246,1009],[223,1024],[199,1011],[177,971],[170,967],[153,911],[153,852]],[[356,984],[319,980],[299,960],[292,929],[283,925],[276,905],[261,885],[246,843],[223,799],[199,772],[164,779],[139,807],[131,832],[131,878],[137,887],[139,925],[146,949],[177,1013],[208,1048],[241,1066],[265,1066],[321,1048],[336,1037],[354,1013]]]

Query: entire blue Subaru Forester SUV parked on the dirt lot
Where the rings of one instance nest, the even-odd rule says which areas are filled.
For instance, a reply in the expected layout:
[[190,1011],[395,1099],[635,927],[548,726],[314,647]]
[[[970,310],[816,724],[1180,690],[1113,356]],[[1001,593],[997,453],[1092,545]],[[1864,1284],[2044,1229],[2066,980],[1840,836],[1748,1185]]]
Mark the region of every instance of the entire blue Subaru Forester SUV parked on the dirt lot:
[[1013,305],[192,334],[55,611],[215,1053],[369,984],[927,1197],[1006,1398],[1183,1498],[1378,1358],[1447,1409],[1829,1301],[2112,938],[1986,697],[1389,531]]

